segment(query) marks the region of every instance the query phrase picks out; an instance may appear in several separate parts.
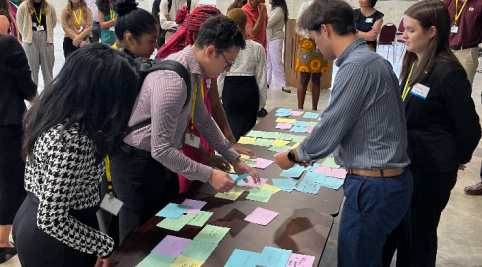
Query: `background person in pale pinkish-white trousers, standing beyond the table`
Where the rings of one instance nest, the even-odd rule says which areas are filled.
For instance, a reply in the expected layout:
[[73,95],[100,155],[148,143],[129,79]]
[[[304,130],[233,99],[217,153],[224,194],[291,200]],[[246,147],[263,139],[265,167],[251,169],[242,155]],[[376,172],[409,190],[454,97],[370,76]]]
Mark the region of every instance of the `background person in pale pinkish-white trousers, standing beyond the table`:
[[268,23],[266,24],[268,35],[268,87],[274,73],[276,87],[286,93],[291,90],[286,87],[285,69],[283,67],[283,43],[285,40],[284,26],[288,22],[288,7],[286,0],[269,0],[271,10],[268,13]]

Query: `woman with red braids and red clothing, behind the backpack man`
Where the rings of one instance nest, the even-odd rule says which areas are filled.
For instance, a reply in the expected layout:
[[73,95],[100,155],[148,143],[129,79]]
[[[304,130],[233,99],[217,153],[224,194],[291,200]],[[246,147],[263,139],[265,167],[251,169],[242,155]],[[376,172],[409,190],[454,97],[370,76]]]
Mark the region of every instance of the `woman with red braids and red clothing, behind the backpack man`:
[[[183,6],[182,9],[177,11],[176,24],[181,25],[179,30],[169,39],[169,41],[162,46],[157,54],[156,58],[165,58],[168,55],[181,51],[185,46],[192,45],[197,39],[199,28],[201,24],[211,16],[221,15],[221,12],[212,6],[199,6],[194,9],[189,15],[187,14],[187,6]],[[209,79],[207,76],[203,78],[203,95],[204,104],[208,109],[214,121],[217,123],[226,139],[229,140],[233,148],[240,154],[246,154],[251,157],[255,157],[254,153],[237,143],[236,138],[231,132],[224,109],[219,100],[217,79]],[[212,89],[212,90],[211,90]],[[188,129],[191,129],[191,122]],[[222,158],[214,154],[214,149],[208,144],[208,142],[201,136],[196,126],[194,126],[192,133],[198,137],[201,137],[201,145],[199,148],[193,148],[185,145],[181,152],[189,158],[212,167],[217,167],[221,170],[228,171],[229,163]],[[187,188],[192,182],[179,174],[179,188],[180,193],[186,192]]]

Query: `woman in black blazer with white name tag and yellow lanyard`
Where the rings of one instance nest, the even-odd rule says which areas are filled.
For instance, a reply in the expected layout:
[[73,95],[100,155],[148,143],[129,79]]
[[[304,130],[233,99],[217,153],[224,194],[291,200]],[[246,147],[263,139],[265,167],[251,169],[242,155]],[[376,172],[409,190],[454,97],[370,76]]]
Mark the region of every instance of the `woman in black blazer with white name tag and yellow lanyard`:
[[403,19],[407,52],[400,93],[405,106],[413,176],[410,208],[387,238],[383,265],[435,266],[437,227],[481,137],[467,74],[449,47],[450,16],[443,2],[418,2]]

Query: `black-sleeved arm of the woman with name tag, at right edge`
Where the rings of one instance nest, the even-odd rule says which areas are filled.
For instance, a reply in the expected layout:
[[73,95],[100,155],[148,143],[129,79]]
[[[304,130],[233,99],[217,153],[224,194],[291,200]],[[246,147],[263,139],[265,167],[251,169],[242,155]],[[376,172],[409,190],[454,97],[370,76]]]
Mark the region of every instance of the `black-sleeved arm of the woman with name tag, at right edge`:
[[466,164],[479,143],[481,128],[479,116],[471,97],[472,87],[462,68],[453,69],[441,77],[443,101],[454,125],[459,164]]

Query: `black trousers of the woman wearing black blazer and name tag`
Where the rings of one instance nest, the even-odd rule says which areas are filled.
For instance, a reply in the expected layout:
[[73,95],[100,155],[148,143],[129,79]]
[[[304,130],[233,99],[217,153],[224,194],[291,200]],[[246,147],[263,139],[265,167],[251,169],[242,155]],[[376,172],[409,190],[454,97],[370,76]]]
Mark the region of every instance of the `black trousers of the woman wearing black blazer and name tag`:
[[397,267],[434,267],[437,228],[457,181],[457,170],[423,174],[412,171],[412,202],[402,222],[387,237],[382,259],[389,267],[397,250]]

